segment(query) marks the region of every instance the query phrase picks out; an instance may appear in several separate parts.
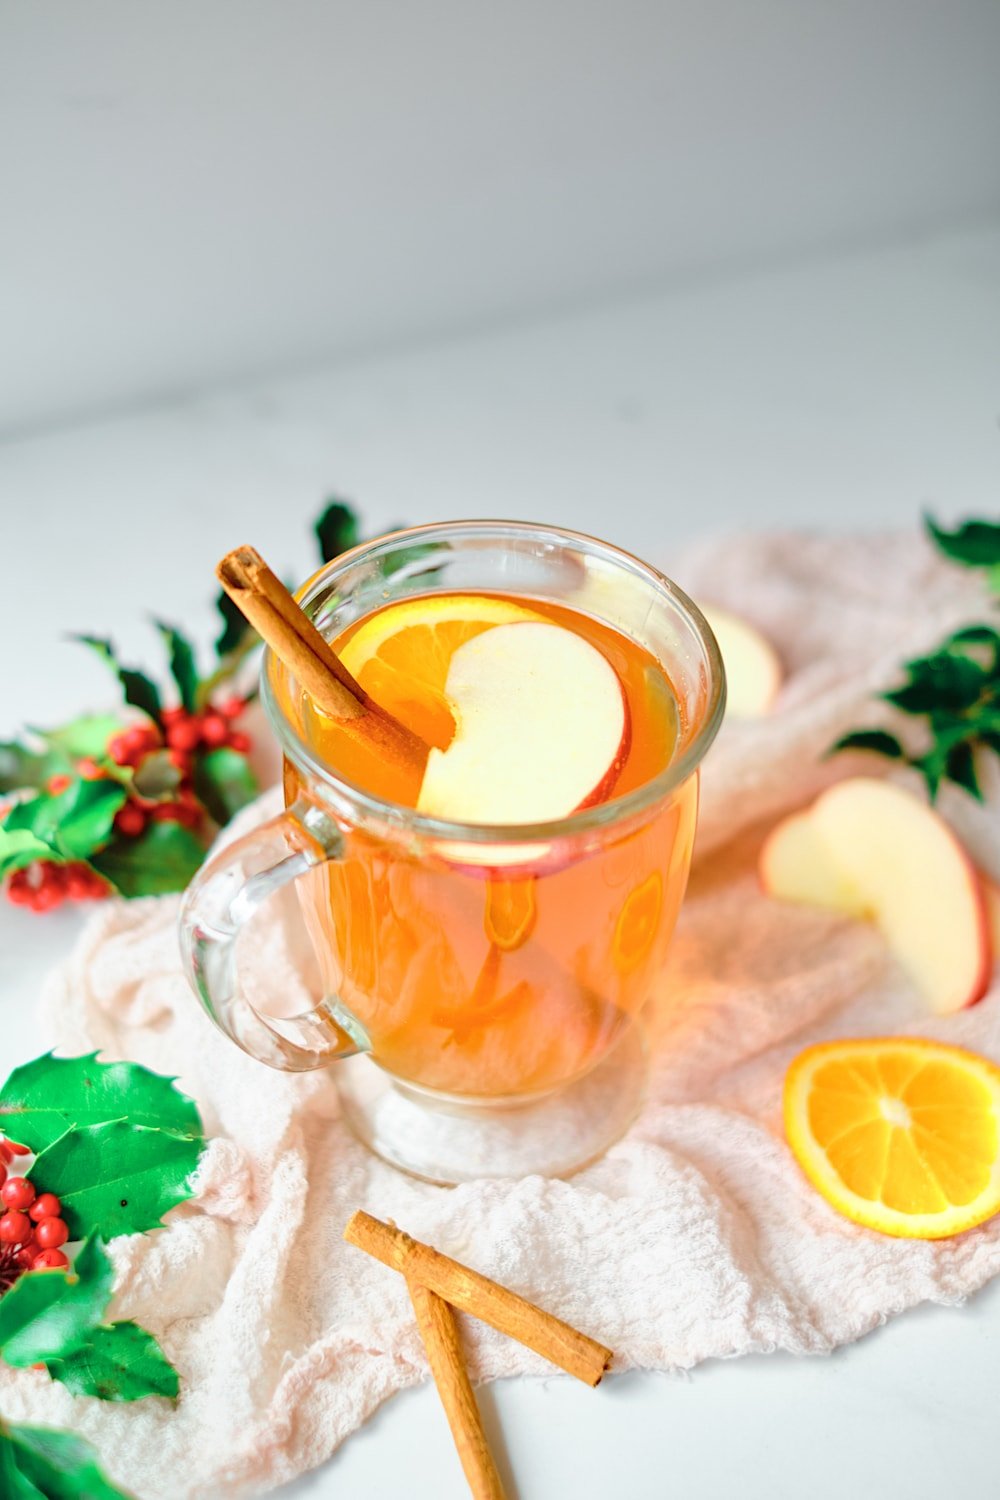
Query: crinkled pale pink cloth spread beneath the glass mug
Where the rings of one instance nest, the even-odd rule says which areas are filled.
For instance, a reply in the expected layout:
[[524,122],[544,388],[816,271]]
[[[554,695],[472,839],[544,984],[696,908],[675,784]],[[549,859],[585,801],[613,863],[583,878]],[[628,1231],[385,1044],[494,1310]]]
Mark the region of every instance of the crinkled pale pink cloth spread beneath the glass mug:
[[[213,1136],[196,1202],[111,1246],[115,1316],[156,1332],[183,1395],[177,1410],[105,1407],[42,1371],[0,1368],[7,1418],[81,1430],[150,1500],[261,1492],[321,1462],[426,1376],[402,1282],[340,1242],[361,1206],[577,1323],[618,1368],[829,1350],[1000,1270],[1000,1220],[942,1244],[841,1220],[801,1176],[780,1119],[786,1065],[823,1038],[900,1030],[1000,1060],[997,986],[930,1018],[871,928],[771,902],[756,879],[766,824],[849,768],[823,750],[873,722],[870,694],[903,656],[975,618],[976,585],[918,538],[756,538],[664,564],[757,621],[789,678],[775,712],[727,724],[709,759],[669,1005],[651,1017],[649,1101],[627,1138],[570,1182],[409,1180],[342,1124],[336,1068],[273,1072],[208,1026],[180,970],[175,898],[108,904],[45,1005],[60,1048],[177,1072]],[[996,824],[963,802],[985,858]],[[255,944],[259,969],[291,966],[280,921],[262,918]],[[468,1346],[480,1378],[547,1370],[480,1324]]]

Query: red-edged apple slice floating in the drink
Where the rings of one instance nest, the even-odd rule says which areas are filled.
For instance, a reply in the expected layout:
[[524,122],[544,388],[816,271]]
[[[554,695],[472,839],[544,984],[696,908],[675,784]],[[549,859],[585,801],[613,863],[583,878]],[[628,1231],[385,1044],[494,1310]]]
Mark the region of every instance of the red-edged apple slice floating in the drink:
[[540,824],[612,790],[628,753],[618,672],[562,626],[495,626],[457,648],[454,738],[427,758],[417,810],[465,824]]

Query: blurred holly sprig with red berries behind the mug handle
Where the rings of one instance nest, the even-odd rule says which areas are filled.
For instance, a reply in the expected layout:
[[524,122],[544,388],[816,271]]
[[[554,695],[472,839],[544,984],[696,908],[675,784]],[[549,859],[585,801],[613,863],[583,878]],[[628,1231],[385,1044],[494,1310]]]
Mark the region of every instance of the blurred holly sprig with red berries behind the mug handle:
[[[330,501],[313,525],[331,561],[360,538],[354,510]],[[189,636],[157,620],[168,681],[124,664],[105,636],[75,639],[114,674],[126,717],[85,714],[0,744],[0,884],[16,904],[181,891],[219,828],[258,792],[240,688],[259,636],[225,592],[207,669]]]

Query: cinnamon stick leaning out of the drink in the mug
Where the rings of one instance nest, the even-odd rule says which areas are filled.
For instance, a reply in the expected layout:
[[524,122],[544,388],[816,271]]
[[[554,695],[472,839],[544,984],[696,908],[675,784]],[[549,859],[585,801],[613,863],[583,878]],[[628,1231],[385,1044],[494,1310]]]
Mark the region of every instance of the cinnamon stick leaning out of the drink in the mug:
[[364,734],[397,758],[426,758],[427,746],[351,676],[259,552],[235,548],[222,558],[216,576],[318,708],[346,729],[364,720]]

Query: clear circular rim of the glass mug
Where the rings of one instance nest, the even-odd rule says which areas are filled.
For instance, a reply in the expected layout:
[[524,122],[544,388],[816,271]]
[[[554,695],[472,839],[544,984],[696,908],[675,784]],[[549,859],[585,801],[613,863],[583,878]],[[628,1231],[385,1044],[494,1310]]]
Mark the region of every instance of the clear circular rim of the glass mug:
[[[274,681],[277,672],[283,669],[271,650],[267,648],[261,666],[261,700],[282,752],[310,780],[331,786],[349,804],[352,812],[361,812],[375,820],[388,819],[396,828],[405,825],[408,832],[436,842],[460,842],[465,844],[504,844],[511,842],[519,844],[552,843],[558,838],[606,828],[609,824],[625,820],[645,812],[649,806],[687,782],[715,740],[726,712],[726,672],[718,642],[712,634],[708,620],[694,600],[669,579],[666,573],[661,573],[649,562],[643,562],[642,558],[634,556],[631,552],[625,552],[610,542],[603,542],[600,537],[588,536],[583,531],[547,526],[534,520],[439,520],[423,526],[408,526],[400,531],[385,532],[370,542],[361,542],[355,548],[351,548],[349,552],[342,552],[331,562],[318,568],[297,590],[295,598],[306,612],[312,614],[310,604],[315,604],[321,594],[325,596],[330,585],[339,576],[349,573],[360,561],[378,561],[396,550],[420,546],[424,542],[442,542],[445,538],[457,542],[469,537],[487,538],[490,536],[496,542],[501,542],[504,540],[502,534],[511,532],[550,548],[564,548],[567,544],[583,546],[588,552],[631,573],[633,578],[652,585],[667,608],[673,608],[682,618],[702,648],[703,666],[708,674],[705,708],[688,742],[684,746],[682,753],[670,759],[663,771],[651,777],[649,782],[643,782],[642,786],[625,792],[622,796],[613,796],[607,802],[598,802],[594,807],[570,813],[565,818],[540,824],[460,824],[442,818],[429,818],[426,813],[418,813],[403,802],[391,802],[381,796],[373,796],[370,792],[337,776],[327,762],[313,754],[279,706]],[[474,592],[475,590],[463,588],[460,591]],[[502,588],[483,591],[504,592]],[[517,597],[523,596],[517,594]]]

